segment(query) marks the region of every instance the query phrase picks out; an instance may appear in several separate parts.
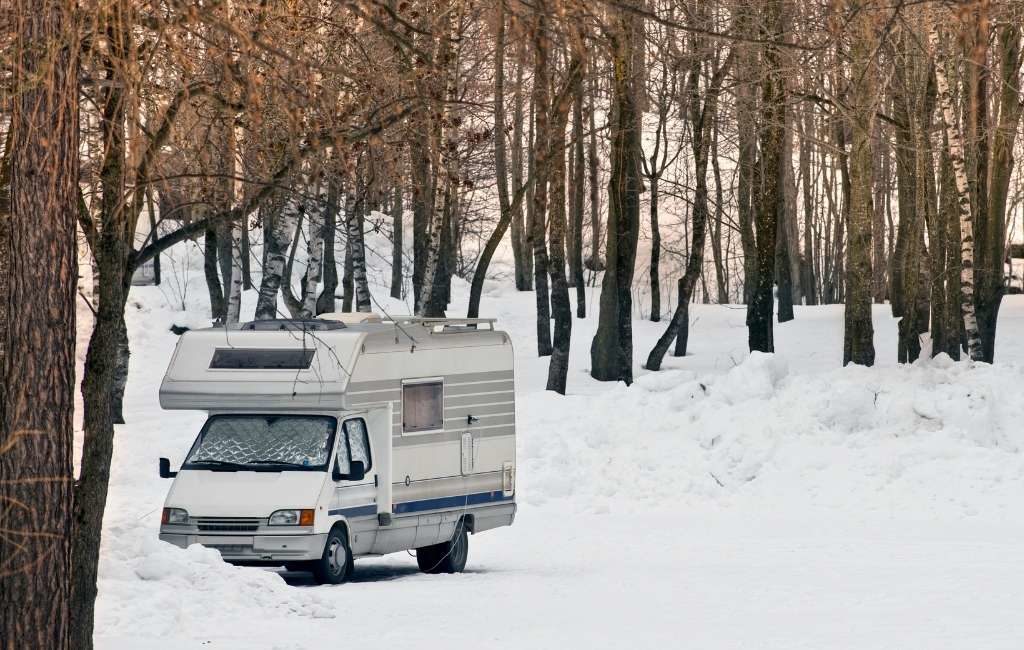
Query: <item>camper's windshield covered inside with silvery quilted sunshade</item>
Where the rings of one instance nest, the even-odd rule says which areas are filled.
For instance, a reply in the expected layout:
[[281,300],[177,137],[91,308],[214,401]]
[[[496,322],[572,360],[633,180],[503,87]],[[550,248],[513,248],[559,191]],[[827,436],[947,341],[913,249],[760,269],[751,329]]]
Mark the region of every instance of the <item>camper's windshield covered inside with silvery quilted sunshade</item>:
[[325,470],[336,427],[326,416],[213,416],[183,468]]

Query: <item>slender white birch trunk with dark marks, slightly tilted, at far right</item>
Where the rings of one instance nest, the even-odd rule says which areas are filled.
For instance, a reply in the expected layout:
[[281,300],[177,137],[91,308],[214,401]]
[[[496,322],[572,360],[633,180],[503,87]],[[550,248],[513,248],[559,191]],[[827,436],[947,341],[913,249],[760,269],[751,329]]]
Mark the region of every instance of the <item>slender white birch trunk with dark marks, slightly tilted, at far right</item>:
[[968,190],[967,169],[964,164],[964,139],[956,126],[952,97],[949,92],[949,77],[945,68],[946,59],[944,55],[940,54],[939,28],[934,15],[929,26],[928,44],[932,58],[935,60],[937,99],[939,107],[942,110],[942,122],[945,126],[946,141],[949,146],[949,161],[952,164],[953,179],[956,184],[956,207],[961,223],[961,313],[964,317],[964,330],[967,334],[968,354],[977,361],[981,360],[983,350],[974,306],[974,221],[971,213],[971,194]]

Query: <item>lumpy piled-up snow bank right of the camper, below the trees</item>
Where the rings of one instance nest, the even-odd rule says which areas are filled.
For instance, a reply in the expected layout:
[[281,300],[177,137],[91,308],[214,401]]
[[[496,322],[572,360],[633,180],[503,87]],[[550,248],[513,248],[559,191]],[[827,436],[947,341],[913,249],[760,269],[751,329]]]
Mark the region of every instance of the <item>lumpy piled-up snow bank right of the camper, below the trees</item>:
[[1022,380],[1017,365],[946,356],[802,374],[755,353],[719,376],[642,375],[601,399],[527,394],[521,499],[1002,517],[1024,487]]

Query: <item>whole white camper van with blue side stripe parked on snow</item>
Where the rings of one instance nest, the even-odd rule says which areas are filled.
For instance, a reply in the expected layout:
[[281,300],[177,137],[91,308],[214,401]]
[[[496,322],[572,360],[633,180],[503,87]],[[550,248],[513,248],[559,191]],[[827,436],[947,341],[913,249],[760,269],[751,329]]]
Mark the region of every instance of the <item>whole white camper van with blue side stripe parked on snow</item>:
[[461,571],[467,533],[512,523],[508,335],[352,315],[181,336],[160,403],[209,419],[177,472],[160,459],[161,539],[337,583],[353,558],[411,549],[424,571]]

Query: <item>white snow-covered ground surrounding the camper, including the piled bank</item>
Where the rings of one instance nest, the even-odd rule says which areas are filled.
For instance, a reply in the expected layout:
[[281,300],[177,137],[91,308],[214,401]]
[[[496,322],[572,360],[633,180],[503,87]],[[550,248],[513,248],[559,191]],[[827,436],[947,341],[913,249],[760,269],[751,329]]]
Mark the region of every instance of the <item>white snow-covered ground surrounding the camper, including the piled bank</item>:
[[[204,420],[158,405],[171,323],[206,320],[201,273],[190,287],[186,310],[170,283],[132,290],[99,648],[1024,645],[1021,297],[1002,309],[999,362],[976,367],[898,366],[888,307],[879,364],[841,369],[841,306],[798,308],[778,354],[750,356],[741,307],[697,305],[691,355],[662,373],[639,360],[664,324],[636,322],[629,388],[589,378],[596,320],[574,320],[559,396],[544,391],[532,294],[488,285],[481,311],[516,345],[515,525],[472,537],[464,574],[423,575],[401,554],[313,587],[157,540],[157,458],[176,466]],[[451,313],[466,293],[457,283]]]

